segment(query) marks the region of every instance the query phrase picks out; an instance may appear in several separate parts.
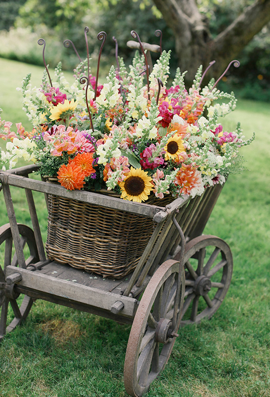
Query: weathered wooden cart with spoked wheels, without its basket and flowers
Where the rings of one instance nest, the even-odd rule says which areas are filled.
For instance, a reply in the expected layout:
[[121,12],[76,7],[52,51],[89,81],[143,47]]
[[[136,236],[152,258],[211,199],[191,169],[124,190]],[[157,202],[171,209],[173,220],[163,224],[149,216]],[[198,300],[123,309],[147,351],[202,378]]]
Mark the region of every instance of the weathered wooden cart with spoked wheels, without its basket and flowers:
[[[68,191],[29,178],[34,170],[36,166],[0,172],[9,217],[9,224],[0,227],[0,244],[5,243],[0,338],[21,324],[36,299],[132,324],[124,383],[129,395],[142,396],[165,366],[180,324],[210,318],[228,290],[233,266],[230,248],[218,237],[202,235],[221,186],[207,188],[201,197],[177,198],[162,208]],[[10,186],[25,189],[32,229],[17,223]],[[45,193],[45,199],[52,194],[152,219],[155,227],[135,270],[122,279],[89,277],[84,270],[48,259],[32,191]],[[11,321],[7,321],[8,310]]]

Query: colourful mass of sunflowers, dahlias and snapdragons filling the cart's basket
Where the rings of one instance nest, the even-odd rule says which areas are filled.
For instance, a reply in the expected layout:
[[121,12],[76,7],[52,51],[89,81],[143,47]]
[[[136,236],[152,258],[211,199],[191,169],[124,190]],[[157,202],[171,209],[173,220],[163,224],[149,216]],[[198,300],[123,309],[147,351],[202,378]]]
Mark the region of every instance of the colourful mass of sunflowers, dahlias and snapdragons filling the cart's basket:
[[72,83],[61,63],[54,81],[46,68],[38,88],[27,75],[20,91],[33,129],[18,123],[13,132],[11,123],[0,121],[0,136],[9,139],[2,167],[23,157],[67,189],[105,188],[135,202],[151,192],[161,199],[194,197],[224,183],[241,170],[239,149],[254,136],[244,140],[240,124],[223,130],[220,118],[236,107],[233,92],[220,92],[214,80],[201,88],[202,67],[187,90],[179,68],[169,80],[169,60],[170,51],[163,51],[149,72],[144,53],[136,52],[128,68],[119,58],[103,85],[91,74],[89,58],[74,70]]

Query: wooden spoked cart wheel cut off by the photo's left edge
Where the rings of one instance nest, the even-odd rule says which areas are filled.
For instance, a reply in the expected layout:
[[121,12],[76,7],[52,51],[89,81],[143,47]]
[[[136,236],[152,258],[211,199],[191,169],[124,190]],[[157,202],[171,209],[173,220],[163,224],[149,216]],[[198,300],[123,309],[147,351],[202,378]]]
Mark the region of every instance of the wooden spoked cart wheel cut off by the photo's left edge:
[[[22,246],[26,264],[38,262],[38,252],[33,231],[26,225],[19,224]],[[27,317],[33,300],[16,292],[16,285],[5,282],[6,266],[18,266],[9,224],[0,227],[0,248],[4,258],[0,266],[0,339],[21,324]],[[3,249],[2,249],[3,248]],[[3,265],[2,265],[3,264]]]

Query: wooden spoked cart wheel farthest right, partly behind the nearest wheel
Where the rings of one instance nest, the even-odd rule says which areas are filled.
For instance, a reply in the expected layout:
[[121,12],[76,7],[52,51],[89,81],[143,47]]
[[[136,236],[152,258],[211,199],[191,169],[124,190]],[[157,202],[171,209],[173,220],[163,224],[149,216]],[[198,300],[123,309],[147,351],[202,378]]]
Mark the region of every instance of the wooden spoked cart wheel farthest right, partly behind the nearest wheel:
[[230,247],[215,236],[199,236],[186,245],[186,291],[181,326],[210,318],[230,286],[233,258]]

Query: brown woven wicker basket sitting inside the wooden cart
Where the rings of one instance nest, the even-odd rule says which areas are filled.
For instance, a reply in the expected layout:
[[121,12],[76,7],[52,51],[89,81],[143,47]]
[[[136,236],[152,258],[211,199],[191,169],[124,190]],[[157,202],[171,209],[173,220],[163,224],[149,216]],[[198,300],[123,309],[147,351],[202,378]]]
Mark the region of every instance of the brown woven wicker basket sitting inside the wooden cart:
[[[156,204],[171,201],[171,197],[156,199]],[[121,278],[132,272],[153,232],[151,219],[51,194],[48,202],[50,259],[104,277]]]

